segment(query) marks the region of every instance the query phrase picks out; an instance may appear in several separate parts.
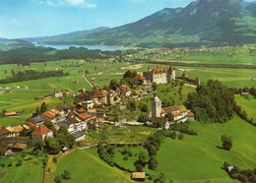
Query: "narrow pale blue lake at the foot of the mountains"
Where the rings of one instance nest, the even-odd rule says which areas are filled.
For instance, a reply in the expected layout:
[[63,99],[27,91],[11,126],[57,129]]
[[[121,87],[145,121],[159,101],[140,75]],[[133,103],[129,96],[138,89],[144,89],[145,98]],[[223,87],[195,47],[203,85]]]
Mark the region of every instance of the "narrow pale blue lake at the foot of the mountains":
[[32,43],[36,46],[53,47],[56,49],[68,49],[70,46],[86,47],[88,49],[100,49],[101,51],[116,51],[116,50],[130,49],[128,47],[107,46],[107,45],[50,45],[50,44],[38,44],[37,42],[32,42]]

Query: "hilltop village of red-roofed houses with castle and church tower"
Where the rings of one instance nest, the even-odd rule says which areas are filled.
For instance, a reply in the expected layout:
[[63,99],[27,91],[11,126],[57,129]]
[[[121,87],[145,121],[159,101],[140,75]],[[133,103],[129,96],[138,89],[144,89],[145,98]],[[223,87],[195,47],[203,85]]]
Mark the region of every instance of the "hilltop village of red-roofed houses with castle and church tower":
[[[129,71],[128,71],[129,72]],[[175,75],[175,68],[170,65],[166,67],[157,67],[133,77],[133,85],[141,86],[140,92],[132,91],[128,85],[120,85],[115,90],[101,90],[94,88],[92,91],[80,90],[75,95],[75,101],[72,104],[57,106],[41,112],[40,114],[30,117],[25,124],[3,127],[0,129],[0,146],[1,154],[7,155],[16,151],[24,151],[36,144],[38,140],[44,141],[46,138],[53,138],[53,131],[47,128],[45,121],[51,122],[58,131],[61,127],[65,127],[68,133],[74,136],[77,142],[84,141],[87,131],[90,127],[97,127],[102,123],[121,126],[122,124],[135,126],[155,126],[161,123],[161,127],[169,129],[171,124],[194,121],[194,114],[184,105],[172,105],[161,107],[161,100],[154,86],[159,84],[175,84],[176,80],[182,80],[189,87],[197,87],[200,85],[199,78],[195,80],[188,78],[186,72],[182,76]],[[142,90],[143,89],[143,90]],[[145,91],[145,96],[141,96]],[[54,91],[54,97],[61,97],[68,94],[69,91]],[[140,100],[145,97],[152,97],[152,108],[147,111],[147,121],[139,121],[134,119],[127,121],[126,118],[110,119],[105,111],[107,106],[117,106],[126,109],[130,100]],[[16,112],[5,112],[6,117],[17,117]],[[24,131],[33,130],[31,136],[21,136]]]

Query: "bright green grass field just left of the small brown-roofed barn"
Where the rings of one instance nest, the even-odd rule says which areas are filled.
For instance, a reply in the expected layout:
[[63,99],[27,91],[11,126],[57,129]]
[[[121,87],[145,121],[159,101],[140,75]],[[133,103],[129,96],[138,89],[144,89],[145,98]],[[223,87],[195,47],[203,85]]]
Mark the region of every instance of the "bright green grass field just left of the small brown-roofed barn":
[[70,171],[71,179],[63,182],[132,182],[130,173],[106,164],[96,149],[77,149],[63,157],[57,165],[56,175],[61,175],[65,169]]

